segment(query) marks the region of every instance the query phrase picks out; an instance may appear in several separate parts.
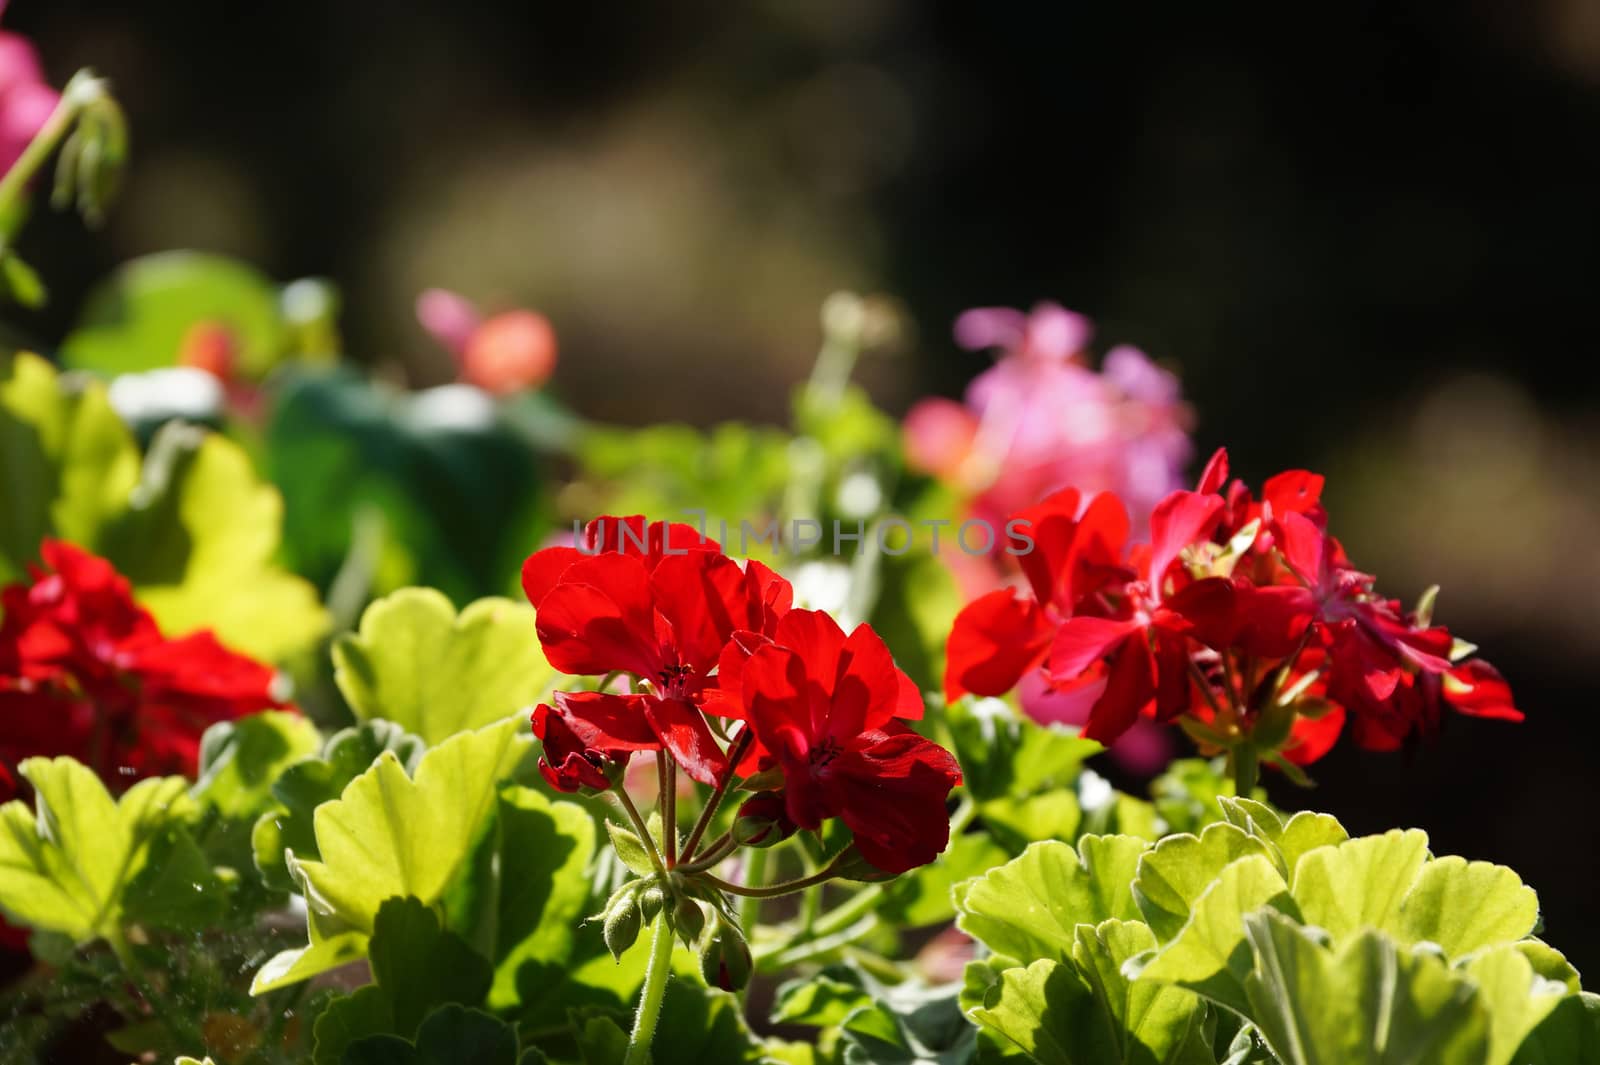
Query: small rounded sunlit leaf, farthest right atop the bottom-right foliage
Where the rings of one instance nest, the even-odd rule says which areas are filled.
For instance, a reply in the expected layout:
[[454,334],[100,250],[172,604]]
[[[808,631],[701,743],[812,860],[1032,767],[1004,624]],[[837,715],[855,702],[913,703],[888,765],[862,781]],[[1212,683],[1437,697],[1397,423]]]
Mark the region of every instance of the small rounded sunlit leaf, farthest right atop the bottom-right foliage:
[[1539,897],[1512,870],[1493,862],[1442,857],[1400,903],[1392,929],[1402,943],[1438,943],[1446,958],[1509,943],[1533,932]]

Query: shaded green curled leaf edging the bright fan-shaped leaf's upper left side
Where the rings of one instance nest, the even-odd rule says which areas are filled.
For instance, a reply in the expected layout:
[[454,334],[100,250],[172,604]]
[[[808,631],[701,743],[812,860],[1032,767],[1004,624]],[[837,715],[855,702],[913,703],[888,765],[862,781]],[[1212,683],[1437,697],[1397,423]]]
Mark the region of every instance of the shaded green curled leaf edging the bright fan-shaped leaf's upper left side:
[[320,756],[302,758],[278,774],[272,796],[280,806],[256,819],[250,838],[256,870],[269,888],[294,888],[285,852],[293,851],[302,859],[320,854],[312,814],[323,803],[339,798],[350,780],[366,772],[386,750],[394,752],[406,772],[414,772],[427,747],[398,724],[368,721],[334,732]]

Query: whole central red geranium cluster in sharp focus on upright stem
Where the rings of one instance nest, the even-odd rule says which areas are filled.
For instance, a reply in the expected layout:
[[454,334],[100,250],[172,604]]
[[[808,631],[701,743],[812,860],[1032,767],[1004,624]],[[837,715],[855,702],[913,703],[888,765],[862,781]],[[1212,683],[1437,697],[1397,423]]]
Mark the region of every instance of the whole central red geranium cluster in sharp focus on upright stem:
[[944,849],[960,771],[899,724],[922,716],[922,696],[867,625],[845,635],[792,609],[789,582],[762,563],[638,517],[598,518],[579,547],[534,553],[523,590],[555,668],[632,681],[534,710],[552,787],[606,788],[611,768],[650,750],[709,785],[776,768],[794,824],[840,817],[883,872]]

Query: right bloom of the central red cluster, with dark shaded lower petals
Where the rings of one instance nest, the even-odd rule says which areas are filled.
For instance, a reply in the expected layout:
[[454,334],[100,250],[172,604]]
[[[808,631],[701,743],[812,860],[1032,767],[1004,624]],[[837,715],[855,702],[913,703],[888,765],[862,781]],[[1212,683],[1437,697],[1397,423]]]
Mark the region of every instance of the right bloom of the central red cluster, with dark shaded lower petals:
[[782,769],[790,820],[842,819],[885,873],[931,862],[949,843],[944,801],[962,771],[896,720],[909,681],[888,648],[867,625],[845,636],[818,611],[794,611],[778,630],[794,643],[758,646],[741,683],[749,728]]

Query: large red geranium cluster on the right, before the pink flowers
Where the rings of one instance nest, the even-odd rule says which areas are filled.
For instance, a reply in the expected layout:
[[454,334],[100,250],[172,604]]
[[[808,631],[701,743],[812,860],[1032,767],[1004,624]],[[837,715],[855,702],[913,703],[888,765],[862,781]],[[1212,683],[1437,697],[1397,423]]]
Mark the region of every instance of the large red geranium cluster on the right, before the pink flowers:
[[1219,451],[1198,491],[1157,504],[1150,542],[1134,545],[1109,493],[1064,489],[1022,510],[1029,590],[962,611],[947,697],[998,696],[1043,668],[1090,707],[1091,739],[1109,744],[1146,715],[1298,764],[1325,755],[1346,723],[1362,747],[1394,750],[1437,731],[1446,704],[1522,720],[1501,675],[1432,624],[1430,598],[1406,612],[1350,564],[1328,534],[1322,483],[1291,470],[1256,499],[1227,485]]

